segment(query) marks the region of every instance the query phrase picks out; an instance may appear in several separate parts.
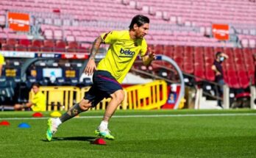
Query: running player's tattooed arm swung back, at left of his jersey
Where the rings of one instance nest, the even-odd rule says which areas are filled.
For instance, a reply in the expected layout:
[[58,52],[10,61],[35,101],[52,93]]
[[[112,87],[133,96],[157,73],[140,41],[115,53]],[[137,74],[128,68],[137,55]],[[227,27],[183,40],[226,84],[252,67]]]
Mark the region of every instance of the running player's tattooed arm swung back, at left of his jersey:
[[92,75],[93,72],[96,70],[95,57],[99,51],[99,47],[101,46],[101,44],[102,44],[102,37],[97,37],[96,40],[94,40],[93,48],[90,51],[90,57],[85,68],[85,74]]

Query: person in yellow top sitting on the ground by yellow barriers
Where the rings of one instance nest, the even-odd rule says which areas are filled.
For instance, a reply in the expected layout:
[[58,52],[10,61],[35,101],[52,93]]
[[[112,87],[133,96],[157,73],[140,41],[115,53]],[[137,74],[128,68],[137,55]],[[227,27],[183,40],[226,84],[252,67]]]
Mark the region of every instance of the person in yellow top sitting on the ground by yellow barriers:
[[32,98],[32,100],[24,104],[15,104],[14,105],[15,110],[31,108],[32,111],[35,111],[35,112],[46,111],[46,97],[40,91],[40,85],[38,83],[33,83],[32,90],[35,93],[35,96]]

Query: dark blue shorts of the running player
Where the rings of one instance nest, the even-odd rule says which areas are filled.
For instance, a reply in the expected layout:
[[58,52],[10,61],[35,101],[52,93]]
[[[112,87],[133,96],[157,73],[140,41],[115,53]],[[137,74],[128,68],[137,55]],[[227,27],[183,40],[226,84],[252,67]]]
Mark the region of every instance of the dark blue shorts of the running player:
[[108,71],[94,71],[93,85],[85,93],[85,100],[89,100],[92,107],[95,107],[103,98],[110,98],[110,95],[117,90],[123,90],[123,87],[115,80]]

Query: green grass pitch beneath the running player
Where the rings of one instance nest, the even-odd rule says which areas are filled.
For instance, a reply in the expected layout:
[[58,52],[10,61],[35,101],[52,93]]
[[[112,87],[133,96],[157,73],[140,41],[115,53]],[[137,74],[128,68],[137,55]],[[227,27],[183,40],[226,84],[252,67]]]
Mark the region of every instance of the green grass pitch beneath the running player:
[[[33,112],[0,112],[0,157],[256,157],[256,111],[128,110],[109,124],[115,140],[90,144],[103,111],[80,114],[46,141],[47,118]],[[29,129],[18,128],[29,123]]]

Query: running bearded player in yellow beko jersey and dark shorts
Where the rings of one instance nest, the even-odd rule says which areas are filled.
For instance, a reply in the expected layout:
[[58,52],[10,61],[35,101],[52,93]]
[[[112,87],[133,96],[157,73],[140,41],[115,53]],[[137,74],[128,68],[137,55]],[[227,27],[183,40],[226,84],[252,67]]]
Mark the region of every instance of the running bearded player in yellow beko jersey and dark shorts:
[[[104,112],[102,122],[96,129],[95,134],[109,140],[114,140],[108,123],[115,112],[115,109],[124,100],[124,90],[120,83],[129,72],[138,54],[141,55],[144,65],[149,65],[155,59],[154,51],[149,49],[144,36],[149,31],[149,18],[144,15],[136,15],[132,18],[129,30],[112,31],[103,33],[97,37],[90,52],[88,65],[85,73],[93,74],[93,85],[88,93],[78,104],[68,109],[60,118],[49,118],[49,128],[46,132],[47,140],[51,141],[52,135],[57,132],[61,123],[68,121],[80,112],[95,107],[103,98],[111,98],[107,109]],[[102,43],[110,44],[106,57],[96,67],[95,57]]]

